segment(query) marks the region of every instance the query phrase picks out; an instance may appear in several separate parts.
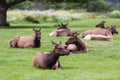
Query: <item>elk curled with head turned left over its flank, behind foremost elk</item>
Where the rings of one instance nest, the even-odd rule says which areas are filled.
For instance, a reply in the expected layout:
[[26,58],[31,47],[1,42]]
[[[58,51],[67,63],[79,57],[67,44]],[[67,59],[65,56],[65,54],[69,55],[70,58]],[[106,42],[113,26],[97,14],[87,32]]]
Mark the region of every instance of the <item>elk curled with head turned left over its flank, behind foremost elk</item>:
[[74,33],[67,41],[66,41],[66,49],[73,53],[81,53],[88,52],[87,44],[81,40],[77,35],[78,33]]

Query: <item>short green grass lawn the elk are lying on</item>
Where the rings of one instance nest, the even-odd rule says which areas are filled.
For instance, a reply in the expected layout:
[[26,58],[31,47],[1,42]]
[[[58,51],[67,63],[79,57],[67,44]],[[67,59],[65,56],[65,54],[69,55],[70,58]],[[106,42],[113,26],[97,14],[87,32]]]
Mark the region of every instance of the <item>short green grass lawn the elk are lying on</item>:
[[[120,19],[82,19],[70,21],[71,31],[82,33],[95,28],[106,20],[106,26],[116,25],[120,32]],[[64,42],[68,37],[48,37],[58,23],[19,23],[0,28],[0,80],[120,80],[120,34],[113,41],[85,41],[89,52],[60,57],[62,69],[42,70],[32,66],[33,57],[39,51],[51,51],[51,40]],[[9,41],[15,35],[32,35],[32,28],[42,28],[41,48],[10,48]],[[81,37],[81,35],[79,35]]]

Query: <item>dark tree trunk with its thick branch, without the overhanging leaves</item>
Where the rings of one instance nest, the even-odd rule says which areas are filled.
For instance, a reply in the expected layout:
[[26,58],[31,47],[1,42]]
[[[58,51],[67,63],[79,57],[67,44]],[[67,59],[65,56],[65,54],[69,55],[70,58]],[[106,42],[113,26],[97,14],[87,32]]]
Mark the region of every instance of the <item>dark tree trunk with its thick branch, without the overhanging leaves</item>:
[[8,8],[24,1],[26,0],[0,0],[0,26],[9,26],[7,23]]

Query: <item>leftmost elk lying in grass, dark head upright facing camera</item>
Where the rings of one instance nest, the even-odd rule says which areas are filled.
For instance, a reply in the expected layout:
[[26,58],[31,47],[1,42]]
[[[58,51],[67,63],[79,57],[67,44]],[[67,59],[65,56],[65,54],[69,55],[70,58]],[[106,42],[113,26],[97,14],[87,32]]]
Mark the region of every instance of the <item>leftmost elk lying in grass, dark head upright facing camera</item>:
[[37,48],[41,46],[41,29],[35,30],[35,35],[31,36],[16,36],[10,42],[12,48]]

